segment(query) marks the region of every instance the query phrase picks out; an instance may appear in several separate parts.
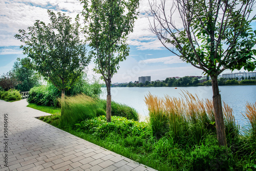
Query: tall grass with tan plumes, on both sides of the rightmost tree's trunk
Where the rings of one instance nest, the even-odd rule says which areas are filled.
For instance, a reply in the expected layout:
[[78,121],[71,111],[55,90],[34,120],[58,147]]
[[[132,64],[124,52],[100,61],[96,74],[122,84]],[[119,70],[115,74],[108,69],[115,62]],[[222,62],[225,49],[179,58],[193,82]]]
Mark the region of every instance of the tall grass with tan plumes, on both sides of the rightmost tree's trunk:
[[[206,134],[216,132],[213,102],[199,99],[188,91],[182,91],[181,95],[183,98],[168,95],[160,98],[152,94],[145,96],[153,134],[156,138],[161,138],[168,133],[177,141],[189,138],[199,144]],[[232,109],[223,104],[226,134],[231,134],[231,131],[238,135],[239,129]]]

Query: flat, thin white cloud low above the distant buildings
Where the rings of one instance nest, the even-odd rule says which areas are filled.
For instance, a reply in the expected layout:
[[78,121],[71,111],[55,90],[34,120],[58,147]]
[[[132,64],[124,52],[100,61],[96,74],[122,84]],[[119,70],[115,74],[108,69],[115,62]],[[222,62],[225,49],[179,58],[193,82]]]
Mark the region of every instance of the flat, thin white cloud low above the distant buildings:
[[178,56],[167,56],[167,57],[161,57],[161,58],[145,59],[145,60],[141,60],[140,62],[143,62],[143,63],[162,62],[164,64],[185,63]]

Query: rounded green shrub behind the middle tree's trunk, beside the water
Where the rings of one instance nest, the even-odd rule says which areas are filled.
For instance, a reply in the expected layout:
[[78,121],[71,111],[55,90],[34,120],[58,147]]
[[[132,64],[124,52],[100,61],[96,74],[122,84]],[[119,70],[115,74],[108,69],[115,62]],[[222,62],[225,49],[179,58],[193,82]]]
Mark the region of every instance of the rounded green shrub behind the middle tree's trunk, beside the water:
[[[104,111],[106,111],[106,100],[101,100],[100,103]],[[111,115],[125,117],[135,121],[139,120],[139,114],[134,108],[115,101],[111,101]]]

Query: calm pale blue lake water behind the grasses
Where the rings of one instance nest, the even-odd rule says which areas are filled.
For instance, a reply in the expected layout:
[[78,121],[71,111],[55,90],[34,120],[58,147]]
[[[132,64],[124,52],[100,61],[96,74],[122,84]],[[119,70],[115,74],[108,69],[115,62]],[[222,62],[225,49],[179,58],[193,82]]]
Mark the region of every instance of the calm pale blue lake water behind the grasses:
[[[256,102],[256,86],[219,86],[222,100],[233,109],[233,115],[240,126],[245,126],[248,121],[242,115],[245,114],[246,102]],[[182,91],[197,94],[200,99],[212,99],[211,86],[207,87],[140,87],[140,88],[111,88],[112,100],[132,106],[143,117],[148,115],[144,102],[148,93],[164,97],[164,95],[182,97]],[[102,88],[102,99],[106,99],[106,88]]]

